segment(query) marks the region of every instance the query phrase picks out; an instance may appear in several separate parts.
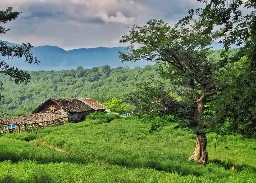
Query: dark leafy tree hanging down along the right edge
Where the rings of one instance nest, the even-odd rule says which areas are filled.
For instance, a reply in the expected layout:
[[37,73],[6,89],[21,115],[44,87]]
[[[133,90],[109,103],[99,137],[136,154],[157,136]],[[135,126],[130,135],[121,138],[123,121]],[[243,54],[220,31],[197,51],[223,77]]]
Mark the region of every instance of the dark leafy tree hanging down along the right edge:
[[[205,4],[205,8],[189,10],[189,15],[179,21],[185,25],[193,16],[198,16],[201,22],[208,20],[209,27],[204,35],[211,34],[214,25],[225,28],[227,36],[220,43],[224,44],[220,66],[235,63],[241,57],[246,57],[243,72],[234,78],[230,87],[223,91],[219,100],[219,118],[229,117],[232,130],[247,137],[256,134],[256,4],[254,0],[197,0]],[[195,14],[196,13],[196,14]],[[231,46],[240,48],[232,58],[227,59]]]

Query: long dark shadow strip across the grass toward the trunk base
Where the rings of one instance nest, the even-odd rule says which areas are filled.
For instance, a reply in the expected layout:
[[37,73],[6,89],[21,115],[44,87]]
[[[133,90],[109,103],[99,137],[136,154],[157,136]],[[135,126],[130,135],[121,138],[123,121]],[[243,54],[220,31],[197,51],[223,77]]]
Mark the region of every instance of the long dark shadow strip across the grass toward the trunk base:
[[[121,167],[127,167],[127,168],[151,168],[155,169],[158,171],[163,171],[167,173],[177,173],[181,176],[186,176],[186,175],[194,175],[196,177],[199,177],[201,173],[195,169],[191,169],[188,167],[182,167],[181,165],[176,165],[176,164],[163,164],[157,160],[150,160],[147,162],[136,162],[133,159],[129,158],[114,158],[110,161],[106,161],[104,158],[103,159],[98,159],[98,160],[91,160],[87,158],[82,158],[79,156],[72,156],[72,155],[65,155],[63,157],[56,157],[56,156],[45,156],[45,157],[40,157],[40,156],[29,156],[27,154],[21,153],[11,153],[11,152],[0,152],[0,162],[3,161],[12,161],[13,163],[18,163],[22,161],[36,161],[38,164],[45,164],[45,163],[60,163],[60,162],[68,162],[68,163],[79,163],[79,164],[88,164],[93,161],[97,161],[101,163],[102,165],[119,165]],[[200,166],[200,165],[198,165]],[[0,182],[1,183],[1,182]]]

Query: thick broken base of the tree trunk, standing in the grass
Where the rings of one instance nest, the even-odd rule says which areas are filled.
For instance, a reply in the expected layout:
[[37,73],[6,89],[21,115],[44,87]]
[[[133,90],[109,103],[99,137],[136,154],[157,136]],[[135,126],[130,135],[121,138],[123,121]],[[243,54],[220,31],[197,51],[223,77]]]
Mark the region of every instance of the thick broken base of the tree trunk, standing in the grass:
[[205,133],[197,133],[196,135],[196,148],[188,161],[197,161],[202,165],[206,165],[208,161],[208,153],[206,151],[207,138]]

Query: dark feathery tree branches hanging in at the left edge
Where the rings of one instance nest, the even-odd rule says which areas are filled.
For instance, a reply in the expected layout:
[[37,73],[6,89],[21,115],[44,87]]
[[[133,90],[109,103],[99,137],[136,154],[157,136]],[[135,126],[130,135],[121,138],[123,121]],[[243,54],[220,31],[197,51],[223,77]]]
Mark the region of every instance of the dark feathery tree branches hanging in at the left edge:
[[[8,7],[5,11],[0,11],[0,25],[7,23],[8,21],[15,20],[21,12],[12,11],[12,7]],[[10,29],[6,29],[0,26],[0,33],[6,34]],[[25,57],[25,61],[29,64],[39,64],[39,60],[37,57],[33,57],[33,53],[31,53],[31,48],[34,47],[30,43],[23,43],[21,46],[10,46],[5,44],[3,41],[0,42],[0,54],[6,59],[13,57]],[[27,83],[31,79],[31,76],[22,69],[18,69],[17,67],[10,67],[4,60],[0,59],[0,73],[3,73],[9,76],[9,80],[16,84],[19,83]],[[3,90],[3,83],[0,83],[0,100],[3,98],[1,93]]]

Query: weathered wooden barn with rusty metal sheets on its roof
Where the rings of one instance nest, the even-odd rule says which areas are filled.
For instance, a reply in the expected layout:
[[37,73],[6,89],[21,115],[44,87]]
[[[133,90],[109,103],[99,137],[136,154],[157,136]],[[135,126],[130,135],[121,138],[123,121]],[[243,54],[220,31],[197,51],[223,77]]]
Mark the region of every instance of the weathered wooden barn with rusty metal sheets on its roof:
[[32,114],[55,111],[61,114],[67,114],[69,121],[78,122],[86,118],[86,116],[95,111],[105,111],[107,107],[96,101],[87,99],[49,99],[40,104]]

